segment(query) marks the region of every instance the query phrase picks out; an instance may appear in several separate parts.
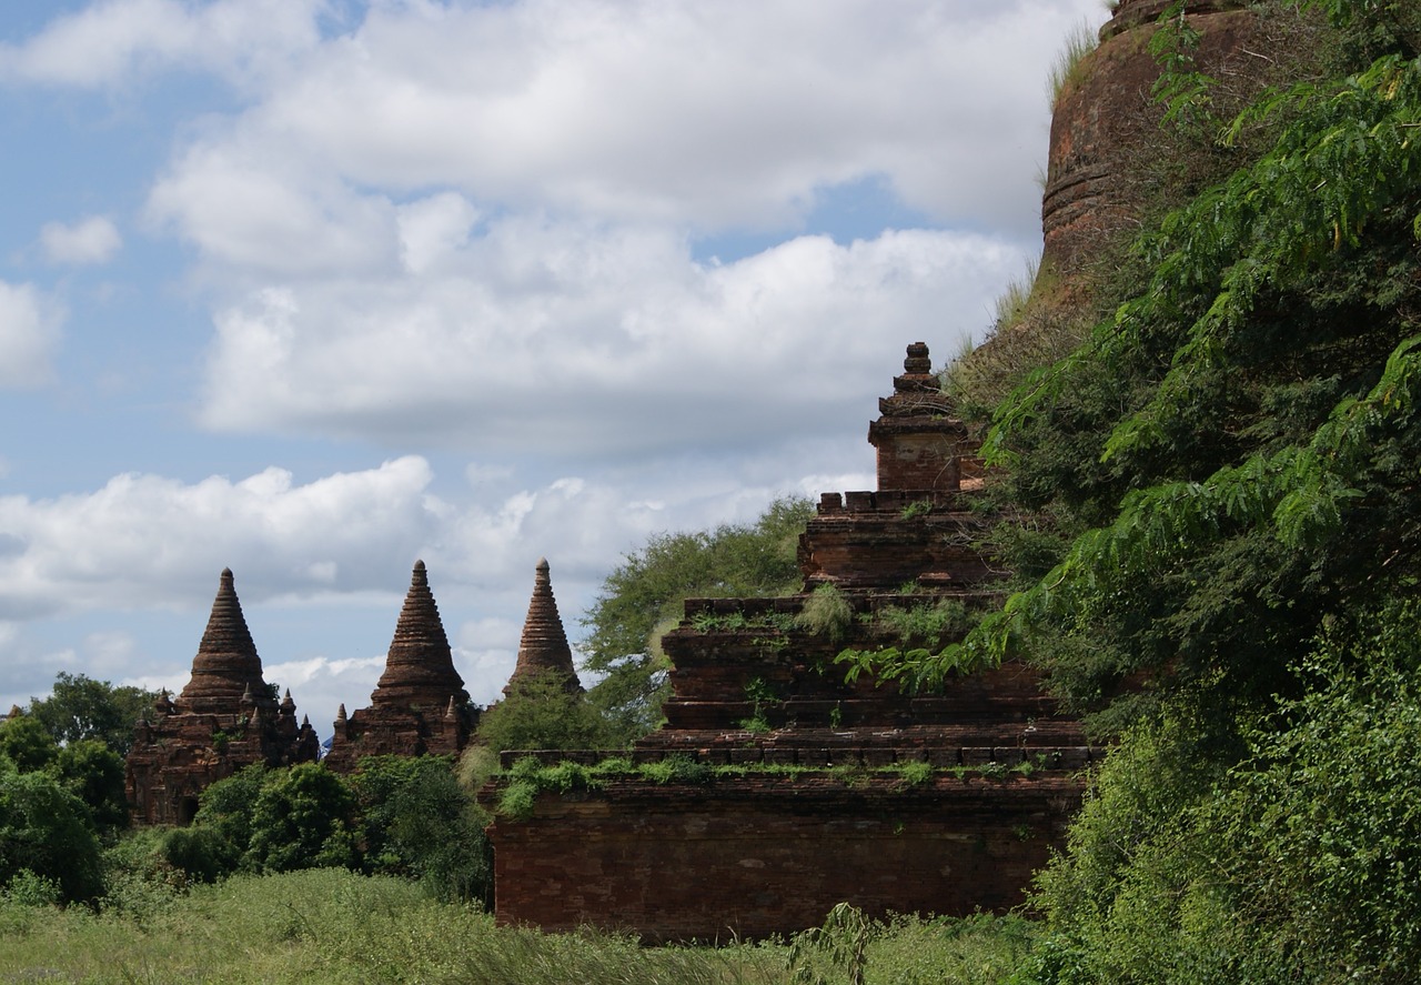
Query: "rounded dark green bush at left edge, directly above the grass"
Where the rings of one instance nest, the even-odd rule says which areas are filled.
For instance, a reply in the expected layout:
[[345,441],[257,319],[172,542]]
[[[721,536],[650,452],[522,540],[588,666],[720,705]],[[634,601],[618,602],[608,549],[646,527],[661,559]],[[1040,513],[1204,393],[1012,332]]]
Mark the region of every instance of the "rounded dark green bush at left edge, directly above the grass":
[[53,776],[0,773],[0,887],[34,876],[58,884],[67,901],[92,900],[104,888],[98,836]]

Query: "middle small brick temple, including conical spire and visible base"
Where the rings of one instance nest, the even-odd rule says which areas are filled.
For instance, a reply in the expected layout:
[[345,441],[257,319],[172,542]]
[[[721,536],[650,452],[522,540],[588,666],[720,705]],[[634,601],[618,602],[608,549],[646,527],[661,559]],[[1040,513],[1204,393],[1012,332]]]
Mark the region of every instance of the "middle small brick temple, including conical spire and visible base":
[[347,715],[345,705],[340,706],[324,762],[348,773],[365,756],[458,753],[477,721],[463,678],[453,667],[425,563],[415,561],[385,672],[369,695],[368,708]]

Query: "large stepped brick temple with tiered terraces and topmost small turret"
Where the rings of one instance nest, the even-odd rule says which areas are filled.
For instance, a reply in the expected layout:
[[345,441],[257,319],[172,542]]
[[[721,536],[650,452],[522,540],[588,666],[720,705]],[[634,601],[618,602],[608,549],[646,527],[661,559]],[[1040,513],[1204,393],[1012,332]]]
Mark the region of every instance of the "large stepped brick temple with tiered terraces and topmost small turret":
[[[821,497],[800,542],[803,591],[692,600],[664,637],[666,722],[632,759],[728,769],[695,782],[625,775],[541,793],[526,819],[496,817],[500,922],[726,940],[817,925],[844,900],[874,915],[1023,901],[1098,755],[1077,722],[1022,664],[917,695],[891,681],[848,684],[834,662],[845,647],[936,647],[963,631],[905,641],[890,610],[966,611],[1000,597],[966,500],[980,462],[929,367],[926,345],[908,347],[870,425],[878,489]],[[797,621],[820,586],[851,613],[838,634]],[[503,753],[504,765],[523,755]],[[483,802],[496,804],[506,782],[485,787]]]

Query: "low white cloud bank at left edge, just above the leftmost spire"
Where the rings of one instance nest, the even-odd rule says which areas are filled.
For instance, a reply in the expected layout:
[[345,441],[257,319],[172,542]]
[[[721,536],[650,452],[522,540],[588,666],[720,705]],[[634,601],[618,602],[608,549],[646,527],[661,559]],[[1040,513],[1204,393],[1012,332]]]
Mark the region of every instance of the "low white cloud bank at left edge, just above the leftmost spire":
[[325,590],[338,564],[347,591],[384,587],[432,536],[423,506],[432,473],[408,456],[294,485],[266,469],[186,485],[121,475],[92,493],[0,499],[0,529],[20,549],[0,557],[3,617],[172,604],[223,567],[260,597]]

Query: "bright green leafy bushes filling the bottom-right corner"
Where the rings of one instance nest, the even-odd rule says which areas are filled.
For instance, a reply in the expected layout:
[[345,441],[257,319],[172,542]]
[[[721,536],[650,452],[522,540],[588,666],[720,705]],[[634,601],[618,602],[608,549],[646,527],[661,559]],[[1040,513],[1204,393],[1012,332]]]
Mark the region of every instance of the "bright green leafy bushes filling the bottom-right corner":
[[1239,763],[1133,728],[1040,878],[1030,981],[1407,981],[1421,962],[1421,611],[1336,625]]

